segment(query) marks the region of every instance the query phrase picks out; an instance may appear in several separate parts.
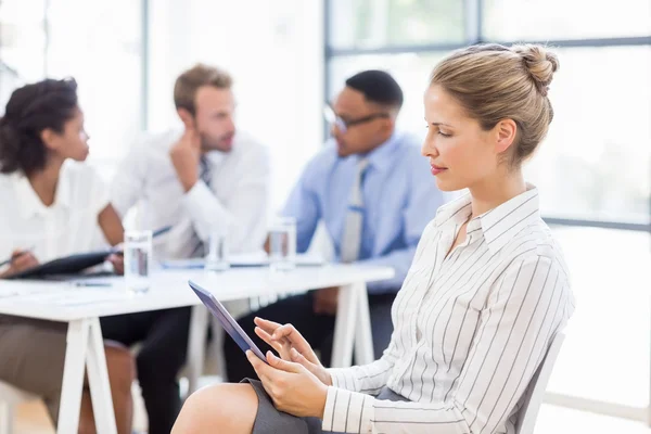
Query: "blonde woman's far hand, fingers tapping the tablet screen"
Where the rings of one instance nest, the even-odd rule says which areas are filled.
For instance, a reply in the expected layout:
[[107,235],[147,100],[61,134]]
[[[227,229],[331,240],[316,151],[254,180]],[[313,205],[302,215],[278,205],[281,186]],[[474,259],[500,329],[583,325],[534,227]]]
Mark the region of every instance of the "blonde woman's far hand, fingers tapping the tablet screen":
[[255,318],[255,334],[269,344],[286,361],[302,365],[327,386],[332,385],[330,373],[315,354],[309,343],[292,324],[281,326],[278,322]]

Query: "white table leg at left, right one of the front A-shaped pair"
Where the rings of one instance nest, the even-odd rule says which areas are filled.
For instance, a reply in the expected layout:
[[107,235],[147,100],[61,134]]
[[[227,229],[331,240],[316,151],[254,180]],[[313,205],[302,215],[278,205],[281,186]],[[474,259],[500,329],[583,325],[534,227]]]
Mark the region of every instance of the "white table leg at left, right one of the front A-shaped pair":
[[104,340],[99,318],[90,320],[90,335],[86,356],[88,384],[92,396],[92,410],[98,434],[116,434],[113,396],[108,383]]

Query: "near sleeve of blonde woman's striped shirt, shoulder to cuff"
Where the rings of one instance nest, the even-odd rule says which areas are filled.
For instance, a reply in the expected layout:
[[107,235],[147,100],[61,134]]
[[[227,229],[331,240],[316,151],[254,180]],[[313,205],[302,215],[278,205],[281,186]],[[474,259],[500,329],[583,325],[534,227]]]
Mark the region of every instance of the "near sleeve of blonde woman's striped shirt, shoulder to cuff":
[[548,257],[516,260],[482,310],[458,387],[441,404],[392,403],[329,387],[323,431],[487,434],[503,427],[572,311],[567,280]]

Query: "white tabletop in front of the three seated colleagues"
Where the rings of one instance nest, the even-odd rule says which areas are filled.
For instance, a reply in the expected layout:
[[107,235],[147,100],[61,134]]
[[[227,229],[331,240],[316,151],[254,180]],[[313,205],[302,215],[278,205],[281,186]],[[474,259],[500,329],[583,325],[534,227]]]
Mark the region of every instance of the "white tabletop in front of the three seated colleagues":
[[158,270],[152,276],[151,290],[137,296],[127,293],[119,277],[85,280],[110,284],[92,288],[69,282],[0,281],[0,314],[67,322],[200,304],[188,280],[196,281],[224,302],[379,281],[393,276],[394,270],[388,267],[359,265],[298,267],[283,273],[267,267],[233,268],[225,272]]

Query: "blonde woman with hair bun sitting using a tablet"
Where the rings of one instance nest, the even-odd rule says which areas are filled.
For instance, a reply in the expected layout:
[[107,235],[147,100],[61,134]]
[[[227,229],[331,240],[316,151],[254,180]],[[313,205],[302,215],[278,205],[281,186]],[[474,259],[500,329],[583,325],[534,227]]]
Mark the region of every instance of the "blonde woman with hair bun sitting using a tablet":
[[323,369],[291,324],[256,319],[276,348],[248,360],[261,382],[195,393],[174,433],[514,433],[529,380],[574,306],[562,254],[522,163],[553,117],[559,67],[540,46],[470,47],[442,61],[424,95],[422,153],[439,208],[371,365]]

